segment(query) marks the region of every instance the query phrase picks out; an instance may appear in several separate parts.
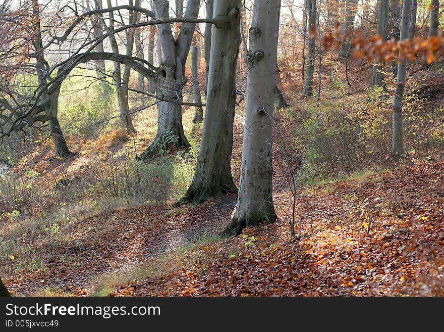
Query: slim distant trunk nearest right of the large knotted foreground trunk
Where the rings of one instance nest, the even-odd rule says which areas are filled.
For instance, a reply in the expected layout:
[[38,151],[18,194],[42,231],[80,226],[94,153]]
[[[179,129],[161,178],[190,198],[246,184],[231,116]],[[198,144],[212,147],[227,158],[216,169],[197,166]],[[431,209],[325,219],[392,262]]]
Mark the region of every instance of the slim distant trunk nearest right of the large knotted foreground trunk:
[[307,50],[307,71],[305,73],[304,91],[302,92],[307,97],[313,96],[313,73],[314,73],[314,46],[315,36],[312,34],[316,31],[316,0],[307,0],[308,11],[308,50]]

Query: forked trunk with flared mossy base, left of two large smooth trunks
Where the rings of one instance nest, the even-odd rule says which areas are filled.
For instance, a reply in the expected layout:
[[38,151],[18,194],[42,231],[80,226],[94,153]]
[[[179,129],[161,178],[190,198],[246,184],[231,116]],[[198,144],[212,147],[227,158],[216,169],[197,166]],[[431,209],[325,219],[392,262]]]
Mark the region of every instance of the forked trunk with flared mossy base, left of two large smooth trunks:
[[[188,0],[185,17],[197,18],[199,0]],[[155,0],[157,19],[169,18],[169,1]],[[185,64],[194,34],[194,23],[182,23],[177,38],[173,36],[169,23],[157,25],[163,55],[163,78],[156,87],[157,95],[162,99],[157,104],[157,134],[153,143],[140,155],[139,160],[155,156],[161,145],[170,144],[174,137],[177,148],[190,148],[182,125],[182,87],[185,84]],[[170,137],[167,141],[165,137]]]

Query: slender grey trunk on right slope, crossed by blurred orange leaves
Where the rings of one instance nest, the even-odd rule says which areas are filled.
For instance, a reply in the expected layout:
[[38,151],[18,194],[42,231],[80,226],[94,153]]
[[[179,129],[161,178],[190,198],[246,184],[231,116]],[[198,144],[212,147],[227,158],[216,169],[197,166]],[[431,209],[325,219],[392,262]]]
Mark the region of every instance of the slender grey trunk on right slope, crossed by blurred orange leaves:
[[[411,0],[404,0],[401,18],[401,40],[409,38]],[[407,59],[401,59],[399,54],[398,77],[396,79],[395,95],[393,96],[393,138],[392,138],[392,156],[399,158],[403,152],[403,98],[406,85]]]

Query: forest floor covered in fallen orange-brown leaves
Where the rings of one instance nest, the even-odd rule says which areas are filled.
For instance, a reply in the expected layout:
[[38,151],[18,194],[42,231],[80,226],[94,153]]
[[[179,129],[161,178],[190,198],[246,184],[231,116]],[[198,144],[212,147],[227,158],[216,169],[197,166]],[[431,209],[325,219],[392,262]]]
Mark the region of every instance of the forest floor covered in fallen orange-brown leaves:
[[[236,179],[242,120],[235,121]],[[282,123],[275,135],[291,141],[291,130]],[[138,142],[148,145],[152,134]],[[122,150],[116,142],[105,148]],[[43,145],[15,167],[30,163],[47,180],[49,173],[75,180],[92,172],[96,146],[83,141],[63,162]],[[293,195],[289,176],[303,161],[291,152],[287,163],[284,148],[273,150],[274,224],[221,238],[236,206],[230,195],[179,208],[171,200],[128,203],[55,226],[44,213],[40,223],[9,218],[1,233],[13,244],[0,261],[2,278],[16,296],[444,296],[442,155],[302,184]]]

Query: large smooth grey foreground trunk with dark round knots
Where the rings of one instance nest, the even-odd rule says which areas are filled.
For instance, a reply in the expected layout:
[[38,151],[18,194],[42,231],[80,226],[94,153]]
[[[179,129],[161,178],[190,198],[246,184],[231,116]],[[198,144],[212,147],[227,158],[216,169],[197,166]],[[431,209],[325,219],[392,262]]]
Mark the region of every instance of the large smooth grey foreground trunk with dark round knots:
[[273,88],[275,85],[281,0],[255,0],[247,56],[247,105],[241,179],[235,215],[224,234],[274,222]]

